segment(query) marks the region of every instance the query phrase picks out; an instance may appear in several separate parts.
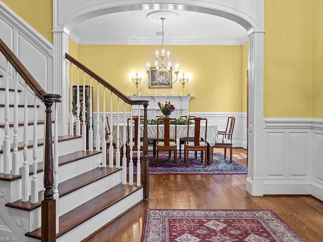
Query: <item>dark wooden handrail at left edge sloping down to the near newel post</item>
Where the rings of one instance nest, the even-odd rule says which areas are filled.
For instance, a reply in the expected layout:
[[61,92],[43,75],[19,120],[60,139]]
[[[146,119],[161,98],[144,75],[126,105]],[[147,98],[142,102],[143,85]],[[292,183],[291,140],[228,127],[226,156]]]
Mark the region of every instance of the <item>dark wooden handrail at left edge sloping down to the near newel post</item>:
[[6,43],[0,38],[0,51],[5,55],[10,64],[17,70],[22,79],[25,80],[27,85],[36,93],[40,100],[43,100],[42,95],[46,92],[39,83],[34,79],[34,77],[28,72],[25,66],[19,61],[17,56],[11,51],[11,49],[6,45]]

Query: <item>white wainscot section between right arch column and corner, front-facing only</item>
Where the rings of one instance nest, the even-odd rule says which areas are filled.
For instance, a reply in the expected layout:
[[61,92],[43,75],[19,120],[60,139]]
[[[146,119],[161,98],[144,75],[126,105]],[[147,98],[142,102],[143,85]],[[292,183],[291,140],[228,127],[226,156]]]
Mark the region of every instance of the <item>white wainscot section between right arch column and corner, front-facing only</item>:
[[311,121],[265,118],[264,193],[311,194]]

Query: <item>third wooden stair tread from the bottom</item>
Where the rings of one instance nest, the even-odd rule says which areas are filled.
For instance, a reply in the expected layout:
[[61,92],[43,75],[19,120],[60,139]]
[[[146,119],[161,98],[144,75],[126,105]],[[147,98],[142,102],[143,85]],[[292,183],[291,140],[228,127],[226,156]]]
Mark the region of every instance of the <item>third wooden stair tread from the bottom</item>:
[[[97,153],[101,153],[102,151],[96,151],[95,149],[93,149],[93,151],[75,151],[73,153],[67,154],[67,155],[62,155],[59,157],[59,166],[60,165],[64,165],[79,159],[82,159],[84,157],[87,156],[91,156]],[[32,175],[32,163],[29,164],[29,175]],[[43,161],[38,162],[37,163],[37,173],[43,171]],[[4,173],[0,173],[0,180],[8,180],[8,181],[12,181],[12,180],[16,180],[16,179],[20,179],[21,178],[21,173],[22,173],[22,168],[19,168],[19,175],[12,175],[12,174],[4,174]]]

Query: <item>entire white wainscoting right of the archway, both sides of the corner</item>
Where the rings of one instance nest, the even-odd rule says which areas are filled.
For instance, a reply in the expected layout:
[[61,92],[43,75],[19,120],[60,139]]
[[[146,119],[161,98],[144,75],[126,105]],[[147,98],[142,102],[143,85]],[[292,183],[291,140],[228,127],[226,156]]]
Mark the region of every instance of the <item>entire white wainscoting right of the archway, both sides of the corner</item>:
[[263,194],[323,200],[323,119],[264,118]]

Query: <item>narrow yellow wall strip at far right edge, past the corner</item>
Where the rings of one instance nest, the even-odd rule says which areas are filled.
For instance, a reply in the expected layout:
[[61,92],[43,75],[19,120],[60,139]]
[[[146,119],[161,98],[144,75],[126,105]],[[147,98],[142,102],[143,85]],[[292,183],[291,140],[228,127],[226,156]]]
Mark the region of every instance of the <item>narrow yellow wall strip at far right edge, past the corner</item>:
[[323,1],[313,1],[313,117],[323,118]]

